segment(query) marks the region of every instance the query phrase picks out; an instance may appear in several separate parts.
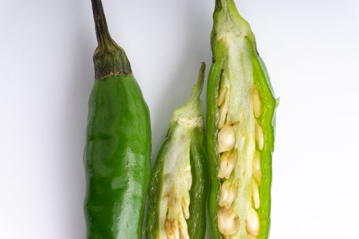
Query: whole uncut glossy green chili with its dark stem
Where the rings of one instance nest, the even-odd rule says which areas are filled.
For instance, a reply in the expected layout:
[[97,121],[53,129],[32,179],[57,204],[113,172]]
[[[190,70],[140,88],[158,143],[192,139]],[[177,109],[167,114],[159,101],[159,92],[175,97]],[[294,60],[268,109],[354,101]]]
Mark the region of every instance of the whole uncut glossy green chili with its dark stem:
[[150,179],[150,116],[126,54],[92,0],[98,48],[84,163],[87,238],[142,238]]

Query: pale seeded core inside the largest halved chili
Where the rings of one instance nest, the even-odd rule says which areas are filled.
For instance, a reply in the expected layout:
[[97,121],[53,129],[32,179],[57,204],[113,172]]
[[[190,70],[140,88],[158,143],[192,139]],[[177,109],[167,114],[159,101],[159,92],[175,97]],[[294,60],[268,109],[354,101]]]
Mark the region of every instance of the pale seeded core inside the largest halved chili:
[[251,47],[244,36],[222,38],[226,61],[218,92],[218,177],[221,187],[217,225],[223,238],[253,239],[261,231],[261,96],[254,85]]

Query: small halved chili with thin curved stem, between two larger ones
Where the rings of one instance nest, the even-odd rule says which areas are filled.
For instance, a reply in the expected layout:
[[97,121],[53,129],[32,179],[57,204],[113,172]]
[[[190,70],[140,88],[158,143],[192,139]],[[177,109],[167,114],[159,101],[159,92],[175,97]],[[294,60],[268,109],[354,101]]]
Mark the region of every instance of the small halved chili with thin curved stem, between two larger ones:
[[202,63],[191,98],[174,111],[152,170],[147,238],[204,238],[208,191],[200,100],[204,68]]

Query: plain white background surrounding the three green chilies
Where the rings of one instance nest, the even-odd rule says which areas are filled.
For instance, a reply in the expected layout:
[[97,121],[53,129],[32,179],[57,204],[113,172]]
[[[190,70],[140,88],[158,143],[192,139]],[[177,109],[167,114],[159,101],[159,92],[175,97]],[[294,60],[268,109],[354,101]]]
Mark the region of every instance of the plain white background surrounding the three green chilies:
[[[271,238],[359,238],[359,2],[236,3],[280,97]],[[150,107],[153,158],[210,66],[214,0],[103,4]],[[90,0],[0,1],[0,238],[85,238],[94,48]]]

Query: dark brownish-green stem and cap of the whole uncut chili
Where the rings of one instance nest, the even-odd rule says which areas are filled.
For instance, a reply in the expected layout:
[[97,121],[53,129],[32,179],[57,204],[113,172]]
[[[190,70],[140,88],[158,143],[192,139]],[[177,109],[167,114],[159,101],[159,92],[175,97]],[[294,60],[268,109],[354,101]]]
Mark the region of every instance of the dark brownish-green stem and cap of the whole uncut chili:
[[124,50],[112,40],[101,0],[92,1],[98,47],[94,53],[95,78],[131,74],[131,65]]

